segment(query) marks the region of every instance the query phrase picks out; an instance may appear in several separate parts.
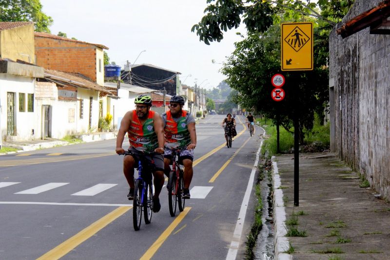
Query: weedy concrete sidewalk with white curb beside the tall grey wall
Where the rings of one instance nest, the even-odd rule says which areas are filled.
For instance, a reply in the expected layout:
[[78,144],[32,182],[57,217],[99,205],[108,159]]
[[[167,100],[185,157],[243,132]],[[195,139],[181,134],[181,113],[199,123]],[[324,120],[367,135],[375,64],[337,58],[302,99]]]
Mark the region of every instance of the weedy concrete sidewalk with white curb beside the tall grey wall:
[[[390,203],[359,181],[333,153],[300,154],[294,207],[293,155],[273,157],[275,259],[390,259]],[[286,237],[292,227],[306,236]]]

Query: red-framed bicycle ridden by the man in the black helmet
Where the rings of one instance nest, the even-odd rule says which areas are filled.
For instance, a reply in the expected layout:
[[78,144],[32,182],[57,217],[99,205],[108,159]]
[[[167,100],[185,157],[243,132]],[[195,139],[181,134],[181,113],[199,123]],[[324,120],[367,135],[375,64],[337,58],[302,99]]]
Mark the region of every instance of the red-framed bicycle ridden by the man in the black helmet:
[[176,215],[176,205],[179,206],[179,211],[184,210],[185,199],[183,198],[184,179],[183,167],[179,165],[178,156],[180,149],[172,150],[172,170],[169,173],[168,179],[168,202],[169,213],[172,217]]

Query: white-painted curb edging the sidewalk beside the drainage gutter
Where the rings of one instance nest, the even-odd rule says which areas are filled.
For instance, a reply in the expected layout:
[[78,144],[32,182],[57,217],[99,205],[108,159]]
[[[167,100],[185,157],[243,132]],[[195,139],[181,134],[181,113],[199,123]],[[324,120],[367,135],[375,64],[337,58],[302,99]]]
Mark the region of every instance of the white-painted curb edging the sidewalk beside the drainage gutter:
[[281,186],[276,157],[272,161],[272,186],[273,186],[273,248],[274,257],[278,260],[292,260],[290,254],[284,253],[289,248],[289,240],[286,237],[286,210],[283,202],[283,189]]

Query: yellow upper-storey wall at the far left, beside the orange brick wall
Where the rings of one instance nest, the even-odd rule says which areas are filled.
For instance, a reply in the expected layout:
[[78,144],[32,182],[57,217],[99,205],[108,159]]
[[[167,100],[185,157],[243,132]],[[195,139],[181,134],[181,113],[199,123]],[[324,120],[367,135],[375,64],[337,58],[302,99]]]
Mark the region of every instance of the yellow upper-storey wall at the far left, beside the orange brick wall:
[[0,56],[35,63],[34,24],[1,31]]

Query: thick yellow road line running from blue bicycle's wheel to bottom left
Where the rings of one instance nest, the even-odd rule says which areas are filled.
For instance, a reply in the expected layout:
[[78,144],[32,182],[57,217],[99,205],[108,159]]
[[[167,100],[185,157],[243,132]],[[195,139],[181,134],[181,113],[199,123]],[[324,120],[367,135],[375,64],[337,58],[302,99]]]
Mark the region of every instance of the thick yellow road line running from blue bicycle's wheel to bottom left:
[[108,225],[109,223],[116,220],[118,217],[122,216],[126,211],[128,211],[130,206],[121,206],[111,211],[95,223],[92,223],[90,226],[84,228],[76,235],[59,244],[37,260],[54,260],[59,259],[69,253],[72,249],[77,247],[82,242],[86,241],[93,235],[95,235],[100,229]]

